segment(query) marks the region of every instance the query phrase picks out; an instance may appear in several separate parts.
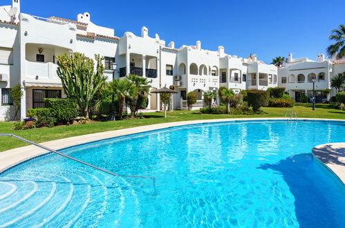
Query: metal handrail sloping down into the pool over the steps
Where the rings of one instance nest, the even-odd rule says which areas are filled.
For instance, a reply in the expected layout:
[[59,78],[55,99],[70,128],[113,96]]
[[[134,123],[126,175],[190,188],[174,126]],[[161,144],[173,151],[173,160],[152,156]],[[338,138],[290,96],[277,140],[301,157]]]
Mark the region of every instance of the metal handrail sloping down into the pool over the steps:
[[34,145],[34,146],[38,146],[38,147],[40,147],[41,149],[45,149],[45,150],[47,150],[47,151],[50,151],[50,152],[53,152],[53,153],[57,153],[58,155],[62,155],[62,156],[65,157],[65,158],[74,160],[75,162],[79,162],[79,163],[81,163],[81,164],[85,164],[85,165],[88,166],[88,167],[92,167],[93,169],[98,169],[98,170],[100,170],[100,171],[103,171],[104,173],[109,173],[109,174],[111,174],[111,175],[115,175],[115,176],[119,176],[119,177],[127,177],[127,178],[149,178],[149,179],[153,180],[153,184],[156,182],[156,178],[153,178],[153,177],[146,177],[146,176],[142,176],[142,175],[120,175],[120,174],[117,174],[117,173],[113,173],[113,172],[111,172],[111,171],[107,171],[106,169],[102,169],[102,168],[100,168],[100,167],[95,167],[95,166],[92,165],[92,164],[88,164],[88,163],[83,162],[83,161],[81,161],[81,160],[77,160],[76,158],[72,158],[72,157],[70,157],[70,156],[68,156],[68,155],[66,155],[66,154],[64,154],[64,153],[60,153],[60,152],[58,152],[58,151],[55,151],[55,150],[53,150],[53,149],[50,149],[50,148],[48,148],[48,147],[46,147],[46,146],[43,146],[43,145],[41,145],[41,144],[37,144],[37,143],[35,143],[35,142],[31,142],[30,140],[26,140],[26,139],[24,139],[24,138],[22,138],[22,137],[19,137],[19,136],[17,136],[17,135],[0,133],[0,136],[15,137],[15,138],[17,138],[17,139],[19,139],[19,140],[21,140],[21,141],[28,142],[28,143],[30,143],[30,144],[32,144],[32,145]]

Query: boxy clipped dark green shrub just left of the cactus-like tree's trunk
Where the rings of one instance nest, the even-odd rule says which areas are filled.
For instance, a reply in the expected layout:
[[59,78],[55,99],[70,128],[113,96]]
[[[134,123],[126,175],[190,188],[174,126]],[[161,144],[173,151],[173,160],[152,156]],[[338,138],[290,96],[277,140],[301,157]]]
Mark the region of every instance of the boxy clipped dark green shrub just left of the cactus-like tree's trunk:
[[69,123],[77,117],[77,100],[68,98],[45,98],[44,106],[51,108],[57,122]]

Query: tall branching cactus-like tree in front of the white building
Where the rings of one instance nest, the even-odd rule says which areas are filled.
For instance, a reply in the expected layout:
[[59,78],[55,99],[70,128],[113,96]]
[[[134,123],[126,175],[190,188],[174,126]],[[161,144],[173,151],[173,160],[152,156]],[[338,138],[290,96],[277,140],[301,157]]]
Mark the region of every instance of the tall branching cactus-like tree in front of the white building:
[[93,59],[82,53],[62,54],[57,56],[57,75],[68,98],[76,99],[84,117],[88,116],[88,108],[93,96],[104,84],[104,57],[95,55],[97,63],[94,71]]

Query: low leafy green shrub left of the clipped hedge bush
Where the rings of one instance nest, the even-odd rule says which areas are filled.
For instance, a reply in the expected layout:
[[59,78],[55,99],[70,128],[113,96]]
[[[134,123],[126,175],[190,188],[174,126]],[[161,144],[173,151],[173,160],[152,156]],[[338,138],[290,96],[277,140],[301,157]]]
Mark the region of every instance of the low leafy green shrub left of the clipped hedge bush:
[[32,108],[28,109],[28,117],[34,118],[35,127],[48,126],[53,127],[57,122],[52,108]]

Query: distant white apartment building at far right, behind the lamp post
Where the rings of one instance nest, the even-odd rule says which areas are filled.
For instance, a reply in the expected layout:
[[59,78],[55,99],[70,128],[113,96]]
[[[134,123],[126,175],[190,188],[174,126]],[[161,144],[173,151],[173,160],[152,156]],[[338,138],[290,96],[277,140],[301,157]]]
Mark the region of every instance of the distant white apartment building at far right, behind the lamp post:
[[[293,59],[290,53],[287,61],[278,70],[278,85],[285,87],[296,102],[301,102],[302,94],[313,97],[313,79],[316,79],[315,101],[321,102],[329,99],[323,91],[330,88],[330,79],[344,71],[344,60],[325,59],[324,54],[317,55],[316,61],[307,57]],[[335,89],[330,95],[335,95]]]

